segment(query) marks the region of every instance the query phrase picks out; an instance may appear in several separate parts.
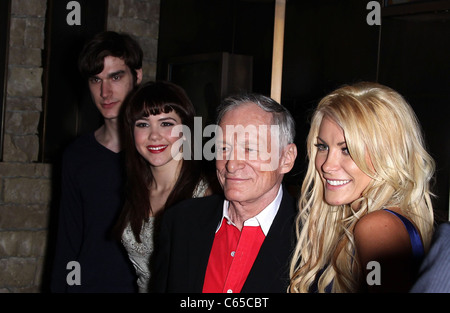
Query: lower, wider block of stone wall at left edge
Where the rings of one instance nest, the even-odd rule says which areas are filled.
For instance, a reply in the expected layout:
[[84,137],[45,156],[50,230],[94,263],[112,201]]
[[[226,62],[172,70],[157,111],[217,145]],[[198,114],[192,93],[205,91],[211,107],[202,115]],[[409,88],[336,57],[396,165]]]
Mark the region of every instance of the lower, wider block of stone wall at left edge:
[[45,260],[48,164],[0,163],[0,292],[38,292]]

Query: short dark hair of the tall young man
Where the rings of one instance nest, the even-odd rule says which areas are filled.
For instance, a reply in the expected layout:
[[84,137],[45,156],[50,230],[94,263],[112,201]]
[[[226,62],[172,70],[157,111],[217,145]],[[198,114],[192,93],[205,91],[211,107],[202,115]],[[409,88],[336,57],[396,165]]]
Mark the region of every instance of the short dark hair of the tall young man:
[[105,57],[117,57],[123,59],[130,68],[136,83],[136,70],[142,68],[143,54],[139,43],[130,35],[105,31],[86,43],[78,59],[78,68],[81,75],[87,79],[103,71]]

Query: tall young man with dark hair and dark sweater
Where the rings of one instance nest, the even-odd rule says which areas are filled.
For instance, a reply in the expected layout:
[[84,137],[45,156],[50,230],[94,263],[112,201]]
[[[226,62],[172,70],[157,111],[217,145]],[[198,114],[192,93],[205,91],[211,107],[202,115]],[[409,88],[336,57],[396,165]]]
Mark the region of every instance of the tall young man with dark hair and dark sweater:
[[123,205],[121,106],[142,80],[143,52],[129,35],[102,32],[83,48],[79,69],[104,118],[64,152],[52,292],[136,292],[136,274],[112,234]]

